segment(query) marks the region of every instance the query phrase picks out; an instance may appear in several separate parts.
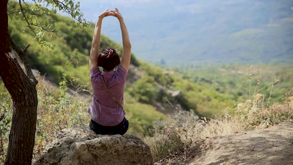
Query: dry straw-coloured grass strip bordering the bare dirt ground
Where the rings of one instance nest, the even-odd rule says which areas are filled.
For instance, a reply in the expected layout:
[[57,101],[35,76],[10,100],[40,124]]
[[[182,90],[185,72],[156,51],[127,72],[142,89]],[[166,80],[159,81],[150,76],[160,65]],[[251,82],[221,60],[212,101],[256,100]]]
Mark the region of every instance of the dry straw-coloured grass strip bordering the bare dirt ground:
[[[261,79],[261,76],[259,78]],[[262,89],[258,89],[259,82],[260,80],[250,99],[235,105],[232,110],[223,110],[221,115],[214,119],[199,120],[192,112],[181,111],[171,105],[175,110],[172,120],[158,123],[152,136],[145,138],[154,159],[160,160],[178,153],[186,154],[190,148],[199,146],[206,138],[233,135],[240,131],[293,121],[293,88],[285,95],[283,103],[273,103],[269,106],[270,97],[266,100],[264,95],[260,94]],[[271,85],[272,89],[275,83],[278,82],[267,86]]]

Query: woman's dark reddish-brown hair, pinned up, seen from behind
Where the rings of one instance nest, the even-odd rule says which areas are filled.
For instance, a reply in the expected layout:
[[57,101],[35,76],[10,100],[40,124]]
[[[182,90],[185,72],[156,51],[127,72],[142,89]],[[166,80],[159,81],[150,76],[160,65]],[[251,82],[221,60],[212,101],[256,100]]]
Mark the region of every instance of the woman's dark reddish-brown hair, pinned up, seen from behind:
[[98,55],[98,67],[103,67],[106,71],[113,70],[119,64],[120,58],[114,48],[103,48]]

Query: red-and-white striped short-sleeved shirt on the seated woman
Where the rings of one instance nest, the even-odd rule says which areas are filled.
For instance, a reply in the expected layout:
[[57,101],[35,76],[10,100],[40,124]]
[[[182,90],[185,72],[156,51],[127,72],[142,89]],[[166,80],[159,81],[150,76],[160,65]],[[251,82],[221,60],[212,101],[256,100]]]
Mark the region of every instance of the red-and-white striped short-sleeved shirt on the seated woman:
[[90,70],[93,98],[88,113],[91,119],[103,126],[115,126],[122,122],[125,111],[115,102],[101,81],[101,75],[113,96],[123,105],[124,84],[127,71],[120,65],[117,71],[101,72],[99,67]]

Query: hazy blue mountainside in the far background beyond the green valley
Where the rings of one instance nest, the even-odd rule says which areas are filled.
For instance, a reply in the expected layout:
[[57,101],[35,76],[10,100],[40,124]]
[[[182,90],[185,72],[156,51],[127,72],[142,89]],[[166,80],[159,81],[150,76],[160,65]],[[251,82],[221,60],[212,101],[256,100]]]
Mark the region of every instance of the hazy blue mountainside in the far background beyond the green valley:
[[[292,0],[82,0],[96,21],[118,7],[139,59],[160,65],[292,63]],[[92,7],[94,6],[94,7]],[[102,32],[121,42],[115,18]]]

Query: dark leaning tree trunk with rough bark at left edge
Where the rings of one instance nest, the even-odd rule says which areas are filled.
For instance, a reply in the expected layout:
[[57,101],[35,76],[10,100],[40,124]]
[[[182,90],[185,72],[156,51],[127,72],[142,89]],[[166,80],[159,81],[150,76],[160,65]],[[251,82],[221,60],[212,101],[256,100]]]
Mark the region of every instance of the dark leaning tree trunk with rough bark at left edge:
[[[26,49],[16,47],[8,33],[7,1],[0,0],[0,77],[13,101],[5,165],[31,165],[37,120],[37,81],[27,63]],[[23,72],[16,60],[25,65]]]

